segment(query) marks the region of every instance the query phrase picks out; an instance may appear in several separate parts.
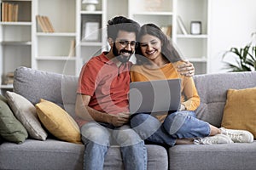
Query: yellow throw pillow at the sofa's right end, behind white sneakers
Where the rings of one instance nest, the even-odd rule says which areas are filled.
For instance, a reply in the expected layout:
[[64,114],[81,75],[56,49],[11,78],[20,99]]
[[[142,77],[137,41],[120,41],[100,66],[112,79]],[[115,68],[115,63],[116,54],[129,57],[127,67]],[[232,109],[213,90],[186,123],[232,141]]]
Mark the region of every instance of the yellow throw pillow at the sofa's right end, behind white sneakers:
[[256,137],[256,88],[228,90],[221,126],[247,130]]

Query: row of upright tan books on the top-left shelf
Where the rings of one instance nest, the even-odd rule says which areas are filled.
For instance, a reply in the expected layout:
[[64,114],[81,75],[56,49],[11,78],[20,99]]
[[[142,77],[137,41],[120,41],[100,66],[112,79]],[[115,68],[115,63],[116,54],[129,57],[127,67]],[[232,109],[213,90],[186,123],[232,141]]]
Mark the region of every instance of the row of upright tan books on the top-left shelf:
[[18,21],[18,4],[2,3],[2,21],[17,22]]

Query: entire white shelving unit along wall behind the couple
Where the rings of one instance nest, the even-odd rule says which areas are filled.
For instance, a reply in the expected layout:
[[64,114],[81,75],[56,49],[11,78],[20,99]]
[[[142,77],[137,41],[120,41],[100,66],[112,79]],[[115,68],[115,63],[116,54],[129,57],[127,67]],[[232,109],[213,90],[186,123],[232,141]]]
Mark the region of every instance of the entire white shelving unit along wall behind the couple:
[[[172,26],[172,41],[183,57],[195,65],[195,74],[207,73],[209,60],[208,14],[211,0],[98,0],[95,11],[87,11],[82,0],[2,0],[18,3],[19,19],[0,22],[1,88],[4,77],[24,65],[38,70],[79,76],[80,69],[92,56],[108,50],[106,26],[108,20],[124,15],[141,25]],[[2,8],[1,8],[2,10]],[[43,32],[37,15],[48,16],[55,31]],[[192,20],[201,21],[201,35],[184,35],[177,25],[177,16],[189,32]],[[97,27],[86,23],[96,22]],[[86,32],[86,29],[92,31]],[[90,34],[96,39],[88,40]],[[69,56],[75,40],[75,56]]]

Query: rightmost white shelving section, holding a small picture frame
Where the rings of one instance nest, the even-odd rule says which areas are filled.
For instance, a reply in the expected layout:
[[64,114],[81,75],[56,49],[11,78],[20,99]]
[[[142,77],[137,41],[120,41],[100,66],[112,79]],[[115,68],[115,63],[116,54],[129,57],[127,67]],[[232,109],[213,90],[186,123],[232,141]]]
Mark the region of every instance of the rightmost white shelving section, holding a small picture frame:
[[[210,0],[173,0],[175,20],[173,25],[173,41],[183,54],[185,59],[189,59],[195,66],[195,74],[205,74],[208,72],[208,1]],[[184,35],[177,24],[177,17],[183,20],[183,24],[188,31]],[[191,21],[201,21],[201,34],[192,35],[190,33]]]

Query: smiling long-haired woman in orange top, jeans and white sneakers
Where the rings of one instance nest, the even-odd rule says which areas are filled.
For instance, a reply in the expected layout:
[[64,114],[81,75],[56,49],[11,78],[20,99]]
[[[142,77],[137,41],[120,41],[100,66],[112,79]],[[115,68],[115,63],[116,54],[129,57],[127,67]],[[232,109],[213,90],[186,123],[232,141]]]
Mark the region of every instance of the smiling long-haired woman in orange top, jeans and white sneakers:
[[[218,128],[195,117],[200,105],[192,77],[180,76],[177,65],[183,61],[171,41],[154,24],[142,26],[136,50],[137,65],[131,68],[131,81],[181,79],[181,105],[173,113],[139,113],[131,117],[131,127],[146,141],[167,146],[174,144],[230,144],[234,136],[242,135],[241,142],[251,142],[252,134]],[[233,137],[232,137],[233,136]],[[230,138],[232,137],[232,138]],[[233,141],[234,140],[234,141]]]

